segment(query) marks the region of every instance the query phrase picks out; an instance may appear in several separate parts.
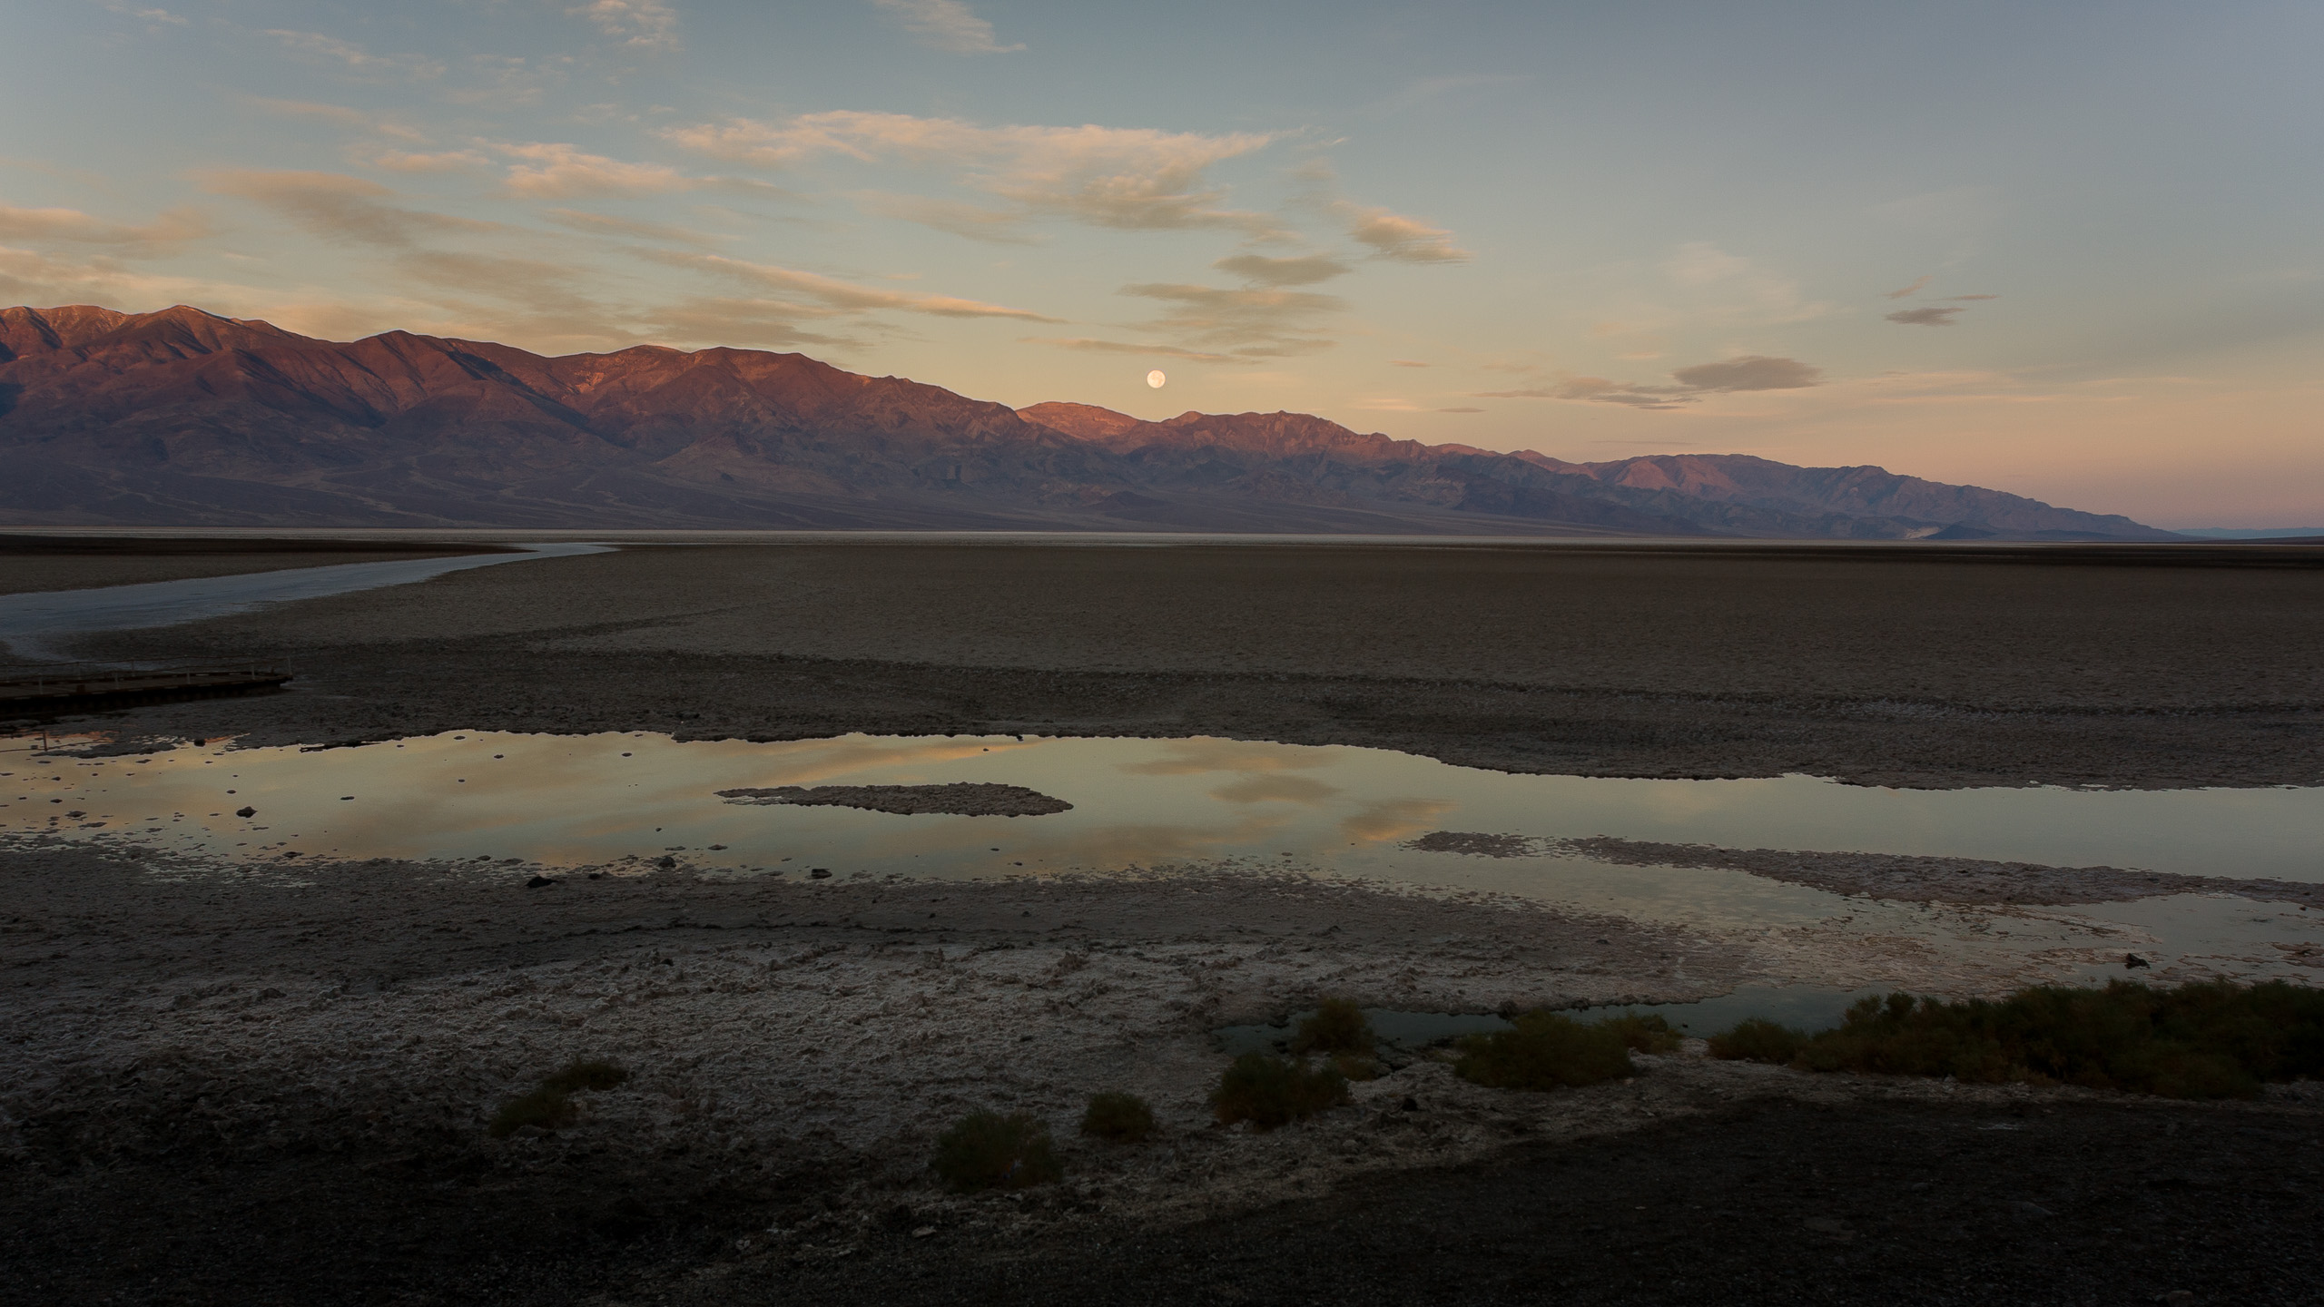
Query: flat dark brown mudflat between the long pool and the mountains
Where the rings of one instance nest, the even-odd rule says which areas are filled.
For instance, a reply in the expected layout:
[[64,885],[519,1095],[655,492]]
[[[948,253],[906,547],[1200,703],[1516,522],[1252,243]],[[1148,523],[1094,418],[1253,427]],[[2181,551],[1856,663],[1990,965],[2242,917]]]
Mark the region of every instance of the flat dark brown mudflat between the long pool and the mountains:
[[1227,735],[1513,772],[2324,781],[2324,549],[634,544],[86,656],[290,656],[149,735]]

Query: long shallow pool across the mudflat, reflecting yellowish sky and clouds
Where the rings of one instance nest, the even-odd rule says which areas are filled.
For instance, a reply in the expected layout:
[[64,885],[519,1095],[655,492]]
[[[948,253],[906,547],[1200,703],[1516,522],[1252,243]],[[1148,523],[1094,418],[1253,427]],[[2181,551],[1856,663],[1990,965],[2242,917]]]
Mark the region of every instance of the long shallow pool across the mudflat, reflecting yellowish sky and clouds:
[[[144,760],[37,760],[28,744],[0,744],[7,749],[0,772],[9,772],[0,777],[0,828],[130,837],[265,860],[297,851],[595,865],[669,851],[695,867],[916,877],[1241,860],[1515,893],[1648,921],[1794,926],[1850,914],[1866,928],[1878,921],[1896,930],[1924,928],[1924,909],[1841,900],[1722,870],[1471,858],[1415,854],[1401,844],[1427,830],[1622,835],[1743,849],[2324,879],[2324,791],[2312,788],[2106,793],[1882,791],[1810,777],[1629,781],[1483,772],[1385,749],[1006,735],[679,744],[665,735],[467,733],[316,751],[202,747]],[[713,793],[944,781],[1030,786],[1074,809],[1013,819],[897,816],[732,805]],[[258,814],[237,819],[244,805]],[[723,849],[711,849],[718,844]],[[2189,916],[2194,909],[2101,905],[2075,912],[2164,937],[2250,933],[2236,919],[2240,909]]]

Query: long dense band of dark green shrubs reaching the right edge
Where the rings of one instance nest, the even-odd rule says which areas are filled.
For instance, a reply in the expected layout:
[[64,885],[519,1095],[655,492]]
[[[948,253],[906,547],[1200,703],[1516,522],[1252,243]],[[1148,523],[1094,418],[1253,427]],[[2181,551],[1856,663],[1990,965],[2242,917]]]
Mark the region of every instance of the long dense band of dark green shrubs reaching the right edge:
[[[1743,1026],[1722,1040],[1738,1035]],[[1713,1051],[1722,1040],[1713,1040]],[[1759,1060],[1820,1072],[2250,1098],[2261,1081],[2324,1072],[2324,993],[2287,981],[2033,986],[1966,1002],[1892,993],[1859,1000],[1836,1030],[1794,1040],[1792,1058],[1780,1058],[1769,1040]]]

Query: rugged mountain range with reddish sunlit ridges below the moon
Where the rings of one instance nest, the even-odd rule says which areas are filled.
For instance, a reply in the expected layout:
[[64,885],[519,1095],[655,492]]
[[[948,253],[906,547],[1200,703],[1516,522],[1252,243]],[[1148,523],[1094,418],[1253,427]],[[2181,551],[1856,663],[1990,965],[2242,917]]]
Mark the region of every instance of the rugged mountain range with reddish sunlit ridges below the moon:
[[188,307],[0,309],[0,521],[2173,537],[1880,467],[1011,412],[799,353],[339,344]]

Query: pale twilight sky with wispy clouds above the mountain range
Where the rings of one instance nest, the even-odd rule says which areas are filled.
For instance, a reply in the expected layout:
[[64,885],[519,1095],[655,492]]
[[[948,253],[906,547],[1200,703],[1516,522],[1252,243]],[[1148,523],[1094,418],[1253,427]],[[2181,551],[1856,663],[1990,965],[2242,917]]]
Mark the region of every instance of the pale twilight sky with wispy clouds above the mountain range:
[[2312,0],[16,0],[0,302],[2324,526],[2319,65]]

